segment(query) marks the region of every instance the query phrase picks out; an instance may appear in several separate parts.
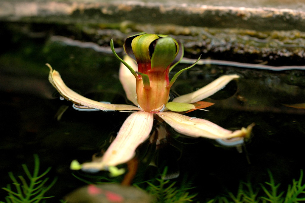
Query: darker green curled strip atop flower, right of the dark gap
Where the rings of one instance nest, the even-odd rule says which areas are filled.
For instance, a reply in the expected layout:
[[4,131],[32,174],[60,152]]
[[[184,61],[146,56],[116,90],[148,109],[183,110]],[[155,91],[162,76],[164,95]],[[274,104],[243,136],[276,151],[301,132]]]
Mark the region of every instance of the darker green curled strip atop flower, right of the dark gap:
[[151,68],[166,69],[175,59],[177,53],[177,45],[171,37],[160,38],[157,41],[155,50],[152,54]]

